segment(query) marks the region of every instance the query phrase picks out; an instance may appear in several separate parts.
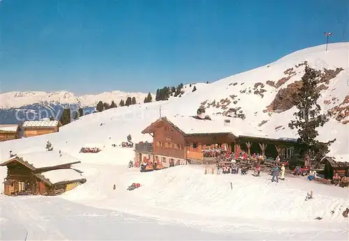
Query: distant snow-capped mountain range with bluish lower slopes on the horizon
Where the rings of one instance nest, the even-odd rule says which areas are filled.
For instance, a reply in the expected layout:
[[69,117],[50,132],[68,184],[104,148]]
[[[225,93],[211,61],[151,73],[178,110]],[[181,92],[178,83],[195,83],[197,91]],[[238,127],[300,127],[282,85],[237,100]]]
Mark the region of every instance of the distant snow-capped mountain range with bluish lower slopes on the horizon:
[[[60,118],[64,108],[70,107],[72,112],[79,108],[84,109],[84,114],[95,110],[99,101],[111,103],[112,100],[119,105],[120,100],[126,101],[128,97],[135,97],[137,103],[143,103],[148,93],[126,93],[122,91],[104,92],[97,95],[77,96],[68,91],[13,91],[0,94],[0,123],[21,123],[24,120],[37,120],[39,118]],[[155,95],[153,95],[155,100]]]

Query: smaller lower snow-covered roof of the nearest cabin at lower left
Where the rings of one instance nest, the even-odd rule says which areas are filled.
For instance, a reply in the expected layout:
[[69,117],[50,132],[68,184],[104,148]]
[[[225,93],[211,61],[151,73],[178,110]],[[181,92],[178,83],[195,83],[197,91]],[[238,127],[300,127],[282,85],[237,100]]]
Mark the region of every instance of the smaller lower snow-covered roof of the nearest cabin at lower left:
[[41,173],[46,179],[50,180],[52,184],[57,182],[73,181],[84,179],[81,173],[75,171],[74,169],[59,169],[53,171],[46,171]]

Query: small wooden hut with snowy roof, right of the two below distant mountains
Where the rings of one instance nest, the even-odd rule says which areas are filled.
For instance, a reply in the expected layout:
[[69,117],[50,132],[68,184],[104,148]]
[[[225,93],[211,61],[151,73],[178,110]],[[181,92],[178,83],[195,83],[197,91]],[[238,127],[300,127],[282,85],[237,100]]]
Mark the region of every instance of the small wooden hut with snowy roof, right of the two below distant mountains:
[[26,120],[22,125],[24,137],[35,137],[40,134],[59,132],[59,120]]

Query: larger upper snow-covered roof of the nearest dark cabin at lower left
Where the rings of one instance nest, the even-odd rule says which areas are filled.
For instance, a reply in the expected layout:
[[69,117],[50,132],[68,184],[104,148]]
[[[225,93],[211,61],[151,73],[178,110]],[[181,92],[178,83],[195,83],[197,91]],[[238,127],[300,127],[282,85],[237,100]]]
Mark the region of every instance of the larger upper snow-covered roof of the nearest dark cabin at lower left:
[[27,166],[30,169],[40,169],[49,166],[80,163],[79,160],[77,160],[75,157],[71,155],[62,153],[62,155],[60,156],[59,151],[51,150],[36,153],[17,154],[15,157],[10,158],[9,160],[3,162],[0,165],[6,166],[7,163],[13,160],[18,160],[20,158],[22,158],[24,164],[27,163]]

